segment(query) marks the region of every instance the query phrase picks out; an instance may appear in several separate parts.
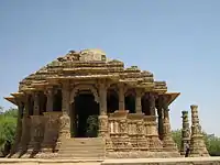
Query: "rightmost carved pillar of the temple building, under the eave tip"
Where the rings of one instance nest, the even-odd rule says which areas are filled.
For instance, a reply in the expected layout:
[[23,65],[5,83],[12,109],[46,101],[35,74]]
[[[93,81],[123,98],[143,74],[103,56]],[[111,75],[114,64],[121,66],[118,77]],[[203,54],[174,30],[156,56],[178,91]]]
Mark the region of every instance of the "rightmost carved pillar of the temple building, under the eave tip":
[[163,145],[164,150],[167,152],[178,153],[176,143],[172,138],[172,129],[169,122],[169,109],[168,109],[168,96],[163,97],[163,110],[164,110],[164,135],[163,135]]

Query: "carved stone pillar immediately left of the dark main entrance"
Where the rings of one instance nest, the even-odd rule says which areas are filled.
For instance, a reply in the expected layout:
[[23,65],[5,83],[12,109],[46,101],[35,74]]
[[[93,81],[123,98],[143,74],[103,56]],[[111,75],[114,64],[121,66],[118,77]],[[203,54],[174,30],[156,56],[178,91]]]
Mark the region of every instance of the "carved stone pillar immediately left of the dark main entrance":
[[59,132],[56,143],[56,150],[59,148],[64,139],[70,139],[70,86],[68,81],[63,82],[62,87],[62,116],[59,118]]

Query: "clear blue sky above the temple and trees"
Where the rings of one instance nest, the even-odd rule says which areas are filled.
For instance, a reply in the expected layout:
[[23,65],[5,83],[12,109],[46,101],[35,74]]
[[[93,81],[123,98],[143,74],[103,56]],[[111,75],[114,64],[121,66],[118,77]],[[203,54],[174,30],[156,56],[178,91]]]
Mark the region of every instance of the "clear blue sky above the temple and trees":
[[69,50],[101,48],[180,91],[182,110],[199,106],[202,128],[220,135],[219,0],[1,0],[0,106],[19,81]]

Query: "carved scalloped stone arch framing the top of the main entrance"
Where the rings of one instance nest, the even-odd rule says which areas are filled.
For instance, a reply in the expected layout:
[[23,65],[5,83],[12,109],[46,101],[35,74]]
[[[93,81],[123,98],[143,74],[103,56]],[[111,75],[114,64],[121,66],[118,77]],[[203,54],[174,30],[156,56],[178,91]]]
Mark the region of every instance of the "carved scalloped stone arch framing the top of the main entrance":
[[70,102],[73,103],[75,101],[75,97],[78,91],[80,90],[90,90],[95,97],[95,101],[99,103],[99,95],[97,89],[92,85],[77,85],[74,87],[70,94]]

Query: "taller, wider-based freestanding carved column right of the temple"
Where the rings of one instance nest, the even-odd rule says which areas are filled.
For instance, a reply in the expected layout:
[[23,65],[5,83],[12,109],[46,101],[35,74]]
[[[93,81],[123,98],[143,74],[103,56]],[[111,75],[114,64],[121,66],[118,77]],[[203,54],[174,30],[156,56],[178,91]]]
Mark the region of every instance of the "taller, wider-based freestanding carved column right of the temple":
[[190,157],[209,156],[201,132],[201,125],[198,118],[198,106],[191,105],[191,139],[190,139]]

